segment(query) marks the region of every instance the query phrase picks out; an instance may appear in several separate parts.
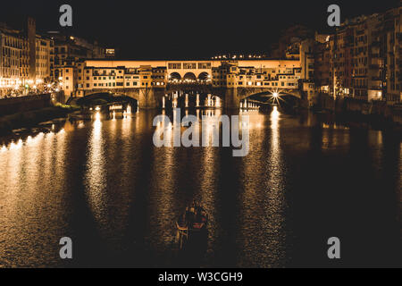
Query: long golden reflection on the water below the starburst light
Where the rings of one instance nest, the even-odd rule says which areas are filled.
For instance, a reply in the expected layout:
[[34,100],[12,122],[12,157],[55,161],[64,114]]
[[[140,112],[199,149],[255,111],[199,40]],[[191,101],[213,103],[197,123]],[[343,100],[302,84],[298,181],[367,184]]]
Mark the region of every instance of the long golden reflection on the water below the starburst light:
[[[242,267],[283,267],[287,263],[285,230],[286,164],[282,161],[281,114],[275,106],[269,122],[250,122],[257,127],[250,138],[250,155],[244,159],[244,195],[240,227]],[[260,117],[260,118],[258,118]],[[266,128],[264,128],[266,126]],[[264,128],[264,130],[261,130]],[[269,149],[263,152],[264,147]],[[255,164],[258,162],[258,164]],[[289,258],[288,258],[289,260]]]

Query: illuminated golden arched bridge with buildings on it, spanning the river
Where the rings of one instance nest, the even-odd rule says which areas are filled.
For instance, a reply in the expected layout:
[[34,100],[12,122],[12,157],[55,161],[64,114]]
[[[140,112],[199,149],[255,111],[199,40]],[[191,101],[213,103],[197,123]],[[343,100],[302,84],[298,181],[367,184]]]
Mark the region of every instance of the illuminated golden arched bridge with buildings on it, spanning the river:
[[77,70],[78,97],[123,94],[137,99],[140,108],[163,107],[168,101],[174,106],[179,98],[186,107],[202,105],[200,95],[217,98],[226,108],[239,108],[255,95],[301,98],[299,84],[304,79],[298,60],[88,60]]

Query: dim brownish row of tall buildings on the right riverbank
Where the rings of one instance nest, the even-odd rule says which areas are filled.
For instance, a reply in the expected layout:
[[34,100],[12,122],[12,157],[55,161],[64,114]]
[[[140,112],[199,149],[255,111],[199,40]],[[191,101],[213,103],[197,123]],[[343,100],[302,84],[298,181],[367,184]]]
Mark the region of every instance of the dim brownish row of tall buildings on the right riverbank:
[[315,47],[315,83],[332,97],[401,102],[401,7],[345,21]]

